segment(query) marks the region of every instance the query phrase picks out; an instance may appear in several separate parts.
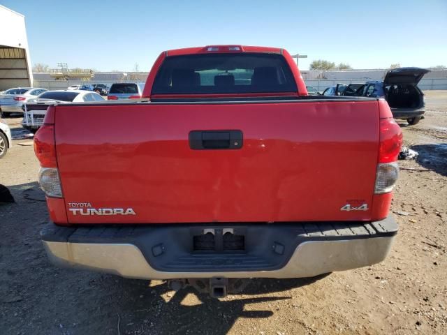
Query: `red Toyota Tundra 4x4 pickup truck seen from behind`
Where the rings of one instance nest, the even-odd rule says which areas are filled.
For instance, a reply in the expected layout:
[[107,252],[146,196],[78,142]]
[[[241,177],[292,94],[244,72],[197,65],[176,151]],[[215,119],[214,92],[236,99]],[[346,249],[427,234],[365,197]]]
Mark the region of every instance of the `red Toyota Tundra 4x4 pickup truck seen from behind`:
[[397,233],[388,104],[309,96],[279,48],[163,52],[141,99],[49,107],[34,144],[57,265],[221,297],[381,262]]

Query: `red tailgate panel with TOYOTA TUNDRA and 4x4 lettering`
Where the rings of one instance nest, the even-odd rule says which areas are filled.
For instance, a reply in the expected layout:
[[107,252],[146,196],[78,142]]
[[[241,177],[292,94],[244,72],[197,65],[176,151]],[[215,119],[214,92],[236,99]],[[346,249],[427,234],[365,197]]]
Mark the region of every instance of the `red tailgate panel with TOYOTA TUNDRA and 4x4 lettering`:
[[[376,101],[78,104],[55,117],[68,223],[371,218]],[[240,149],[189,146],[191,131],[225,130],[243,133]]]

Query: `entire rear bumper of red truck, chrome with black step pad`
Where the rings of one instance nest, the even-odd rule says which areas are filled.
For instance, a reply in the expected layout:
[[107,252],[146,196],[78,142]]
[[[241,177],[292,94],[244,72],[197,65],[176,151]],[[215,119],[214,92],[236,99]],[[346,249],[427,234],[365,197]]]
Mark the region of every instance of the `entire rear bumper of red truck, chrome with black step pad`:
[[[242,234],[244,251],[193,251],[193,236]],[[397,233],[392,217],[373,223],[273,223],[66,228],[42,232],[50,260],[127,278],[300,278],[381,262]],[[219,244],[219,243],[217,243]]]

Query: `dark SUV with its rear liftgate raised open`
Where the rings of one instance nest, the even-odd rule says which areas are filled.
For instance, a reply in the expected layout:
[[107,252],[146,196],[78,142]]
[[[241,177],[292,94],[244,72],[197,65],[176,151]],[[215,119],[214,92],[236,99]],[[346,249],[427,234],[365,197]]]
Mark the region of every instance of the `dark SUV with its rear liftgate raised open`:
[[383,80],[366,82],[356,95],[385,98],[395,119],[406,119],[410,125],[418,124],[425,113],[424,94],[418,82],[429,72],[425,68],[394,68]]

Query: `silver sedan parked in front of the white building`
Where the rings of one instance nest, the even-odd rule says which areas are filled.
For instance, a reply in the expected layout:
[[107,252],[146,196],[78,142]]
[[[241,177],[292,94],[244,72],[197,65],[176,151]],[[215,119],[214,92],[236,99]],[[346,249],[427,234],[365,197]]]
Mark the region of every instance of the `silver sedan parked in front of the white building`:
[[9,117],[12,113],[22,113],[22,105],[30,99],[36,98],[39,94],[46,92],[46,89],[38,87],[17,87],[7,89],[0,94],[1,117]]

